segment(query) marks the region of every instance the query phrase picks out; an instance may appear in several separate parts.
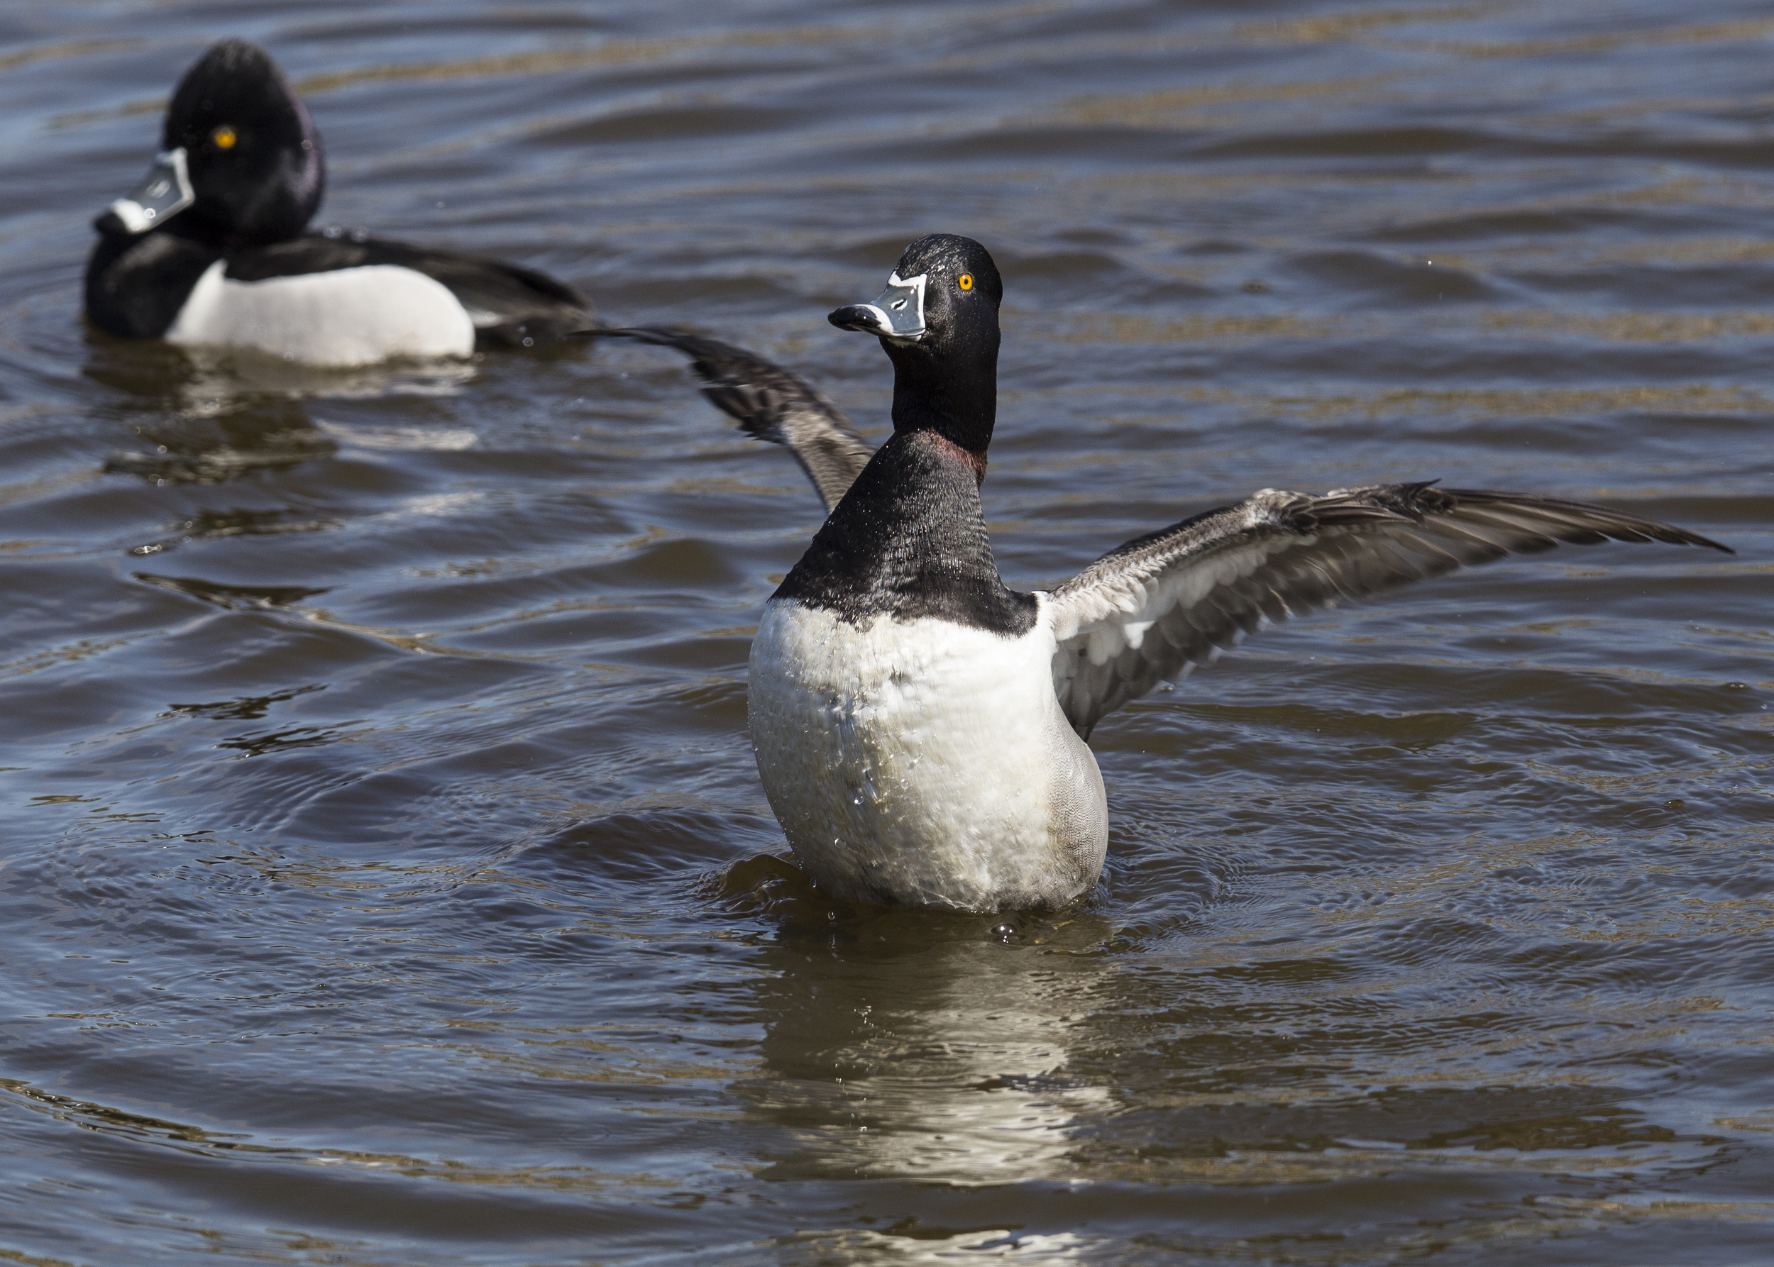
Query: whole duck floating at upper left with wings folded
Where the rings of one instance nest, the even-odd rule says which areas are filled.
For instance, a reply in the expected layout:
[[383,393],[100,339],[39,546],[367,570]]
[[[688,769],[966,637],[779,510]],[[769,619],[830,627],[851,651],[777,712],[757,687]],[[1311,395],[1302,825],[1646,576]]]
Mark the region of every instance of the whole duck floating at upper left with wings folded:
[[264,50],[224,39],[179,80],[147,179],[94,220],[87,318],[312,366],[530,346],[591,319],[577,291],[529,268],[305,232],[325,186],[302,99]]

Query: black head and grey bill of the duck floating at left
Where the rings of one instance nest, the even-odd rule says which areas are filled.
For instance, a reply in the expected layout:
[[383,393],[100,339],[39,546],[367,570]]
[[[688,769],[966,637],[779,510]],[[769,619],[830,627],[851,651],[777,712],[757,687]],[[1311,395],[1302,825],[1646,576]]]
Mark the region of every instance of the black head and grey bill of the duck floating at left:
[[147,179],[112,202],[99,232],[179,231],[218,247],[302,232],[326,185],[321,137],[270,55],[224,39],[184,73]]

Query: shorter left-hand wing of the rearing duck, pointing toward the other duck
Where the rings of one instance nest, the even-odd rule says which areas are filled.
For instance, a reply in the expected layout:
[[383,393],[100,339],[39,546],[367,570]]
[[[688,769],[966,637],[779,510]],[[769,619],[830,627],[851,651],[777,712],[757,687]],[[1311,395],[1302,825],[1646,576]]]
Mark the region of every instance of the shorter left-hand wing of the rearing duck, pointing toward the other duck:
[[781,444],[795,454],[830,513],[875,456],[836,405],[800,376],[763,357],[667,327],[582,330],[589,339],[639,339],[690,357],[703,396],[731,415],[747,435]]

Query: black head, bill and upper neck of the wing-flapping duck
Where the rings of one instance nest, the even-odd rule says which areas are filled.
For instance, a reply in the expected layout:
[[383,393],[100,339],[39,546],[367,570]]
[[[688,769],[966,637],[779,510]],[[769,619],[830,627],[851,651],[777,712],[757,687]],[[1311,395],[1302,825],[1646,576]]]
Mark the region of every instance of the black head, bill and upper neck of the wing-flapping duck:
[[828,321],[880,335],[894,364],[896,431],[937,431],[983,454],[997,413],[1002,298],[1004,282],[985,247],[933,232],[905,248],[875,303],[841,307]]

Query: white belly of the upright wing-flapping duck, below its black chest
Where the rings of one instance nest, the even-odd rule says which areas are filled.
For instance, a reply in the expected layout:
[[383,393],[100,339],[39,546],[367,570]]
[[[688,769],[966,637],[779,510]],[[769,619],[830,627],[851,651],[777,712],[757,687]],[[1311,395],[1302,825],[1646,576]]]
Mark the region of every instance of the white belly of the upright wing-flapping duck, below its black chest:
[[772,602],[752,641],[757,772],[836,896],[1052,907],[1102,870],[1107,806],[1054,696],[1052,616],[1024,637],[940,619],[866,628]]

